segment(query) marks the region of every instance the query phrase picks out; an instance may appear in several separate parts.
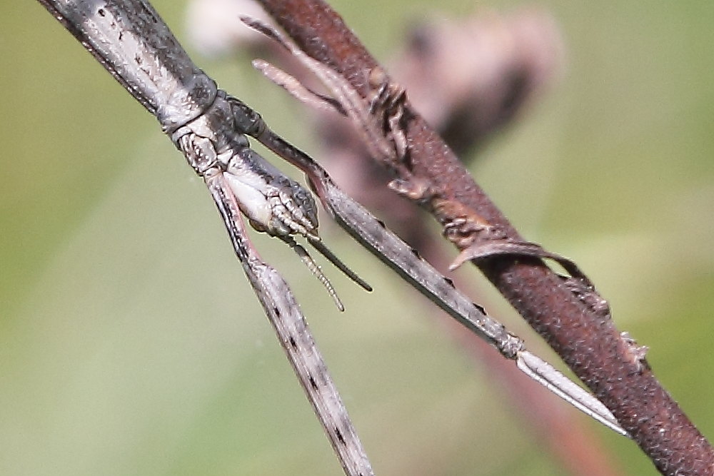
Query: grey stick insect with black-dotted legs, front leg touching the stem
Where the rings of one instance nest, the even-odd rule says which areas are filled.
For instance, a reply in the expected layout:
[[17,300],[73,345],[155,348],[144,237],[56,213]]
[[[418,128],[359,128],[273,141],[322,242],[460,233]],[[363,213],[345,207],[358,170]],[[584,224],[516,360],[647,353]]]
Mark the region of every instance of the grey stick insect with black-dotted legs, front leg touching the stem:
[[[626,435],[595,397],[529,353],[520,338],[508,333],[383,223],[346,196],[318,163],[273,133],[252,108],[218,89],[188,58],[148,1],[39,0],[39,3],[157,118],[164,133],[206,183],[243,270],[346,474],[371,475],[373,471],[290,288],[278,271],[258,255],[241,215],[256,230],[276,236],[296,250],[338,308],[343,306],[328,279],[293,236],[303,236],[358,285],[366,290],[371,288],[321,242],[316,203],[311,194],[258,156],[250,148],[246,135],[301,168],[333,219],[413,287],[486,339],[504,357],[516,360],[518,368],[531,378]],[[290,48],[275,31],[261,24],[253,26]],[[338,81],[329,71],[322,74],[327,83]],[[348,104],[342,108],[349,110]]]

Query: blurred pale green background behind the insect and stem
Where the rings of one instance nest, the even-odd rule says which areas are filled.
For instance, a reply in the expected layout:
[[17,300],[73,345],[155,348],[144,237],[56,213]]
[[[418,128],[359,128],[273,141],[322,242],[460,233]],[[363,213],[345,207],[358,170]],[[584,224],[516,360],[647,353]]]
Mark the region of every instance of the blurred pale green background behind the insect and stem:
[[[154,3],[182,39],[186,4]],[[331,3],[379,59],[433,11]],[[563,29],[565,77],[473,173],[524,236],[588,272],[712,437],[714,4],[540,5]],[[438,2],[448,16],[474,6]],[[338,474],[208,193],[154,118],[39,4],[0,5],[0,51],[0,473]],[[301,106],[247,58],[195,59],[316,148]],[[256,242],[293,286],[378,474],[564,474],[421,301],[323,234],[376,287],[364,295],[326,268],[344,315],[288,248]],[[538,345],[495,299],[491,313]],[[624,474],[655,474],[592,425]]]

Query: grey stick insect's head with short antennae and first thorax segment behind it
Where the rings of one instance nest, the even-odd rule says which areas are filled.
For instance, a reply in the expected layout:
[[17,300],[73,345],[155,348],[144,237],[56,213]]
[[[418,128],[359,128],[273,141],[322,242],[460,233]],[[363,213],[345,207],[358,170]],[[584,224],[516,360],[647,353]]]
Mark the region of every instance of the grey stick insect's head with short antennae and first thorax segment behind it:
[[[248,223],[257,231],[287,243],[323,284],[338,309],[344,310],[333,285],[307,250],[296,243],[293,235],[307,238],[316,250],[358,285],[366,290],[371,287],[321,242],[317,231],[317,206],[312,194],[250,148],[248,138],[241,133],[246,124],[236,123],[233,111],[243,107],[237,99],[218,91],[216,100],[205,113],[178,128],[172,139],[199,175],[209,178],[221,174]],[[251,130],[258,131],[264,126],[257,115],[247,122]]]

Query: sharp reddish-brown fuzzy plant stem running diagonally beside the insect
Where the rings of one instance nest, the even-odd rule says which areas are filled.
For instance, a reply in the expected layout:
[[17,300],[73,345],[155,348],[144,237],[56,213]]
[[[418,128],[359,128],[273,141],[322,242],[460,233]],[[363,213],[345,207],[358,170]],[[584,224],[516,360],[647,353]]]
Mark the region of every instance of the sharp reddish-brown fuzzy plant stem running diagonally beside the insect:
[[[378,64],[323,1],[261,0],[261,4],[307,54],[338,71],[363,98],[369,97],[370,75]],[[503,238],[523,240],[408,102],[401,124],[408,156],[403,163],[388,165],[405,183],[419,183],[428,190],[419,197],[421,205],[445,226],[459,219],[467,225],[486,223]],[[456,228],[449,238],[464,249],[482,239],[478,233],[478,226]],[[573,293],[538,259],[501,256],[481,260],[478,266],[612,410],[660,472],[714,474],[714,451],[708,441],[609,315],[593,308],[582,294]]]

